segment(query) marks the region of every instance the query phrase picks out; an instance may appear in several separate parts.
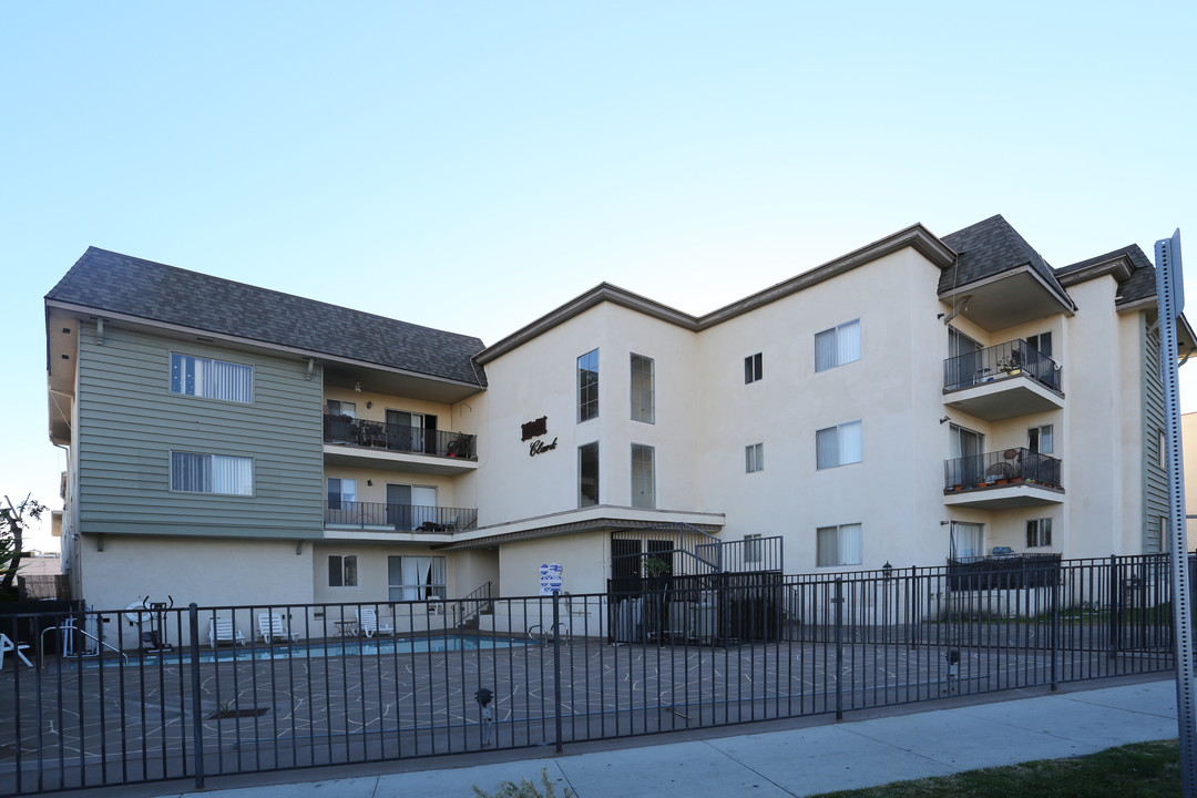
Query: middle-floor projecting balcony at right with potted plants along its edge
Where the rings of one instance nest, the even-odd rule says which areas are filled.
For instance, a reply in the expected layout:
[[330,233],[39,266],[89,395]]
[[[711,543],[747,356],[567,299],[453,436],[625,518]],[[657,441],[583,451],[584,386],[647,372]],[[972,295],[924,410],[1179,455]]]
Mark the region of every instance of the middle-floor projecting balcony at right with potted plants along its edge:
[[1005,449],[943,462],[943,504],[1007,510],[1062,504],[1061,461],[1029,449]]

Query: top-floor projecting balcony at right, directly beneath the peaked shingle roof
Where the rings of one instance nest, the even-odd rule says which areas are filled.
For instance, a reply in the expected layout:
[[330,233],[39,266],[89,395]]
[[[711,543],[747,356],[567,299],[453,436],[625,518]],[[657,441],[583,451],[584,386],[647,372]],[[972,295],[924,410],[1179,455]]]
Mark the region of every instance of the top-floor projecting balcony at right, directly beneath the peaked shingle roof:
[[943,403],[986,421],[1064,407],[1059,365],[1022,339],[943,361]]

